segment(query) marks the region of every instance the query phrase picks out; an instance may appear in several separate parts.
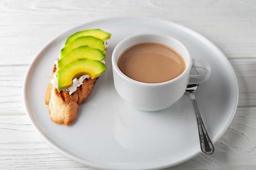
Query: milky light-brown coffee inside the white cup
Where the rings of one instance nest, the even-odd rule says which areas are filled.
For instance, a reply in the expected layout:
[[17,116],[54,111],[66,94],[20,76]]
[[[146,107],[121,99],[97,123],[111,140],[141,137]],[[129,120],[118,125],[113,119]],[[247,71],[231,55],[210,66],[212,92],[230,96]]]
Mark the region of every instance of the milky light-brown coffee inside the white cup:
[[131,79],[160,83],[178,77],[186,64],[182,56],[168,46],[141,43],[126,49],[120,55],[117,66]]

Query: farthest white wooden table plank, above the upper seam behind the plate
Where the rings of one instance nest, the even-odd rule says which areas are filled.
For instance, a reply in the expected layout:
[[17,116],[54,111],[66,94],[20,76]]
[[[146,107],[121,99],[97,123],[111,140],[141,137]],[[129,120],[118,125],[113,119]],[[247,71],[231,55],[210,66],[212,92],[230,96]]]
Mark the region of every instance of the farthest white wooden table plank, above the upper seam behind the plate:
[[[221,1],[186,2],[183,10],[170,10],[179,5],[172,1],[101,1],[99,4],[2,0],[0,53],[3,55],[0,56],[0,65],[29,64],[53,38],[79,24],[102,19],[103,13],[104,18],[116,17],[117,13],[118,16],[157,16],[206,36],[228,58],[256,56],[256,41],[252,36],[256,21],[254,1],[227,3],[229,8]],[[56,15],[59,12],[61,15]]]

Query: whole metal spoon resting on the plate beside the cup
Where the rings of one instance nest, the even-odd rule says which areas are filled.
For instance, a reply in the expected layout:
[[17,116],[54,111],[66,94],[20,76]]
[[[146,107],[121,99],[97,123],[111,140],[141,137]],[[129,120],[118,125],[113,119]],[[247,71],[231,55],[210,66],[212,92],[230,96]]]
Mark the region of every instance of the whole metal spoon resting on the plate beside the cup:
[[[198,75],[198,72],[195,68],[192,68],[190,73],[191,73],[191,75]],[[198,86],[199,86],[199,84],[189,84],[186,87],[186,93],[189,94],[189,96],[192,100],[193,106],[194,106],[195,116],[196,116],[196,120],[198,123],[198,132],[199,132],[201,150],[204,154],[209,155],[214,152],[214,147],[213,147],[213,144],[211,143],[211,139],[204,127],[204,123],[203,123],[202,117],[199,112],[198,104],[195,100],[194,92],[196,91]]]

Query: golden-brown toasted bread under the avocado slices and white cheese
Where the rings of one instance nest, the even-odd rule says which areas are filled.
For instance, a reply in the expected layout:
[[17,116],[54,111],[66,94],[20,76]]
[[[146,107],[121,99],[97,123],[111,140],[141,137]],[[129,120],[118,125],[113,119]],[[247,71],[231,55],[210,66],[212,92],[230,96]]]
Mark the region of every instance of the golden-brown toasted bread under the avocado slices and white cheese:
[[[56,65],[54,65],[52,78],[55,72]],[[58,91],[54,85],[49,83],[45,94],[45,104],[49,105],[49,114],[52,121],[58,124],[70,125],[76,119],[79,104],[86,102],[97,79],[98,77],[84,79],[83,84],[77,87],[71,95],[65,90]]]

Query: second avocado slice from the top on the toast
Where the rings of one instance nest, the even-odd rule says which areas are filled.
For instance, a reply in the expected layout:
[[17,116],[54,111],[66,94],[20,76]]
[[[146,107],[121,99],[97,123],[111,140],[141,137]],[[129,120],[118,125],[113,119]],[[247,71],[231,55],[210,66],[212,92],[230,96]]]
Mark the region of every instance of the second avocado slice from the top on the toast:
[[104,41],[102,41],[101,39],[95,38],[93,36],[83,36],[76,38],[67,45],[65,45],[63,49],[61,49],[61,57],[68,53],[70,50],[85,45],[88,45],[95,49],[100,49],[101,51],[106,50],[106,47],[104,46]]

